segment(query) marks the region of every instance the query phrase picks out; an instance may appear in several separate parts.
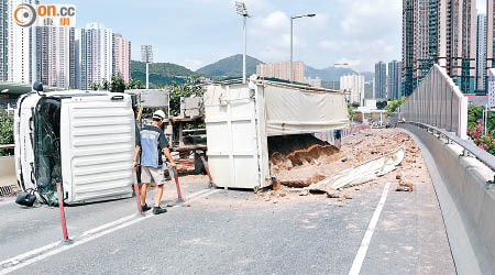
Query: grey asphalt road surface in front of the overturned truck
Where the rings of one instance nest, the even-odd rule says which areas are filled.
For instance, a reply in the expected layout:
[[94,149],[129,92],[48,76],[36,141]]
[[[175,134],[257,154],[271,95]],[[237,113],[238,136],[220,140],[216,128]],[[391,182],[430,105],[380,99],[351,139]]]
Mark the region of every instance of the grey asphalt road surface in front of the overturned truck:
[[[336,204],[205,182],[161,216],[138,216],[134,198],[68,207],[68,245],[57,208],[2,200],[0,274],[455,274],[431,184],[365,185]],[[175,196],[168,184],[163,205]]]

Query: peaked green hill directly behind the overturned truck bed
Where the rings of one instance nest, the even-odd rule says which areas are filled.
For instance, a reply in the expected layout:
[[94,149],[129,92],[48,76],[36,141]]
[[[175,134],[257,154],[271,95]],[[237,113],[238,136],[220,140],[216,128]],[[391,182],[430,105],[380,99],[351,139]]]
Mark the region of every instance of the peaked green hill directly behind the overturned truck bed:
[[[256,74],[256,65],[263,63],[254,57],[245,57],[245,68],[248,77]],[[196,73],[210,77],[242,77],[242,54],[233,55],[207,65]]]

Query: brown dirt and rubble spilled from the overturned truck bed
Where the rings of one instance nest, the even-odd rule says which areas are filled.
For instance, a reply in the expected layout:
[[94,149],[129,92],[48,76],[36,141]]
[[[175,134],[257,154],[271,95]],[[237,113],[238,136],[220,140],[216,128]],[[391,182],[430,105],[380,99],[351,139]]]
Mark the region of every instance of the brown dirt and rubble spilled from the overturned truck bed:
[[[378,156],[387,155],[403,144],[406,148],[405,157],[396,170],[367,184],[328,193],[326,197],[334,198],[329,204],[340,207],[350,204],[353,196],[361,196],[361,189],[366,189],[374,184],[392,183],[397,191],[408,193],[416,191],[417,186],[421,187],[426,184],[431,184],[431,178],[422,160],[419,145],[408,134],[398,129],[364,130],[342,141],[342,148],[340,151],[319,140],[311,141],[311,138],[305,138],[302,142],[300,142],[300,138],[299,140],[293,140],[292,143],[285,141],[285,145],[283,140],[274,140],[272,146],[276,150],[270,151],[271,156],[273,154],[275,156],[271,160],[272,175],[285,186],[282,186],[279,190],[266,189],[261,191],[258,196],[262,199],[273,201],[273,204],[289,200],[315,200],[319,196],[312,196],[308,189],[300,187],[307,187],[326,178],[333,178],[342,170],[355,167],[363,162],[374,160]],[[298,142],[300,142],[299,146]],[[287,143],[292,144],[295,150],[290,151],[290,146],[287,146]],[[314,164],[310,164],[311,161],[306,160],[302,162],[302,165],[297,165],[298,162],[294,162],[296,165],[293,165],[293,161],[290,161],[293,155],[299,155],[299,160],[305,160],[305,157],[301,157],[302,155],[306,156],[302,152],[310,151],[310,147],[315,145],[330,146],[332,150],[328,151],[327,154],[320,153],[319,155],[312,155],[310,160]],[[279,158],[278,154],[285,157]]]

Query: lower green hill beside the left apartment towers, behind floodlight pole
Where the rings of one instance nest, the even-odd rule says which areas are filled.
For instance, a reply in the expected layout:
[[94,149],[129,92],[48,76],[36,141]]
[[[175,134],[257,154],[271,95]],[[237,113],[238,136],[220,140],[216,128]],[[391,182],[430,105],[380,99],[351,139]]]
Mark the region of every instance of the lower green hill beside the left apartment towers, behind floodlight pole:
[[[176,81],[184,84],[195,72],[173,63],[153,63],[150,64],[150,88],[161,88],[165,85]],[[146,64],[143,62],[131,61],[131,77],[146,82]]]

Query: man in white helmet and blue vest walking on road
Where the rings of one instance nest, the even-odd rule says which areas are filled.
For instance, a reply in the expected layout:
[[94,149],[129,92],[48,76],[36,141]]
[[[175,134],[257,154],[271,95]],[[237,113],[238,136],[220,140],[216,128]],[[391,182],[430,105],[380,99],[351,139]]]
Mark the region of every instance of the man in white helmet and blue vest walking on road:
[[176,164],[172,158],[170,151],[168,150],[168,141],[165,138],[163,130],[161,129],[165,113],[162,110],[153,113],[153,124],[146,125],[141,130],[141,141],[135,146],[134,152],[134,167],[138,166],[138,156],[141,152],[141,209],[147,211],[151,208],[146,205],[146,190],[153,179],[156,185],[155,206],[153,207],[153,213],[165,213],[167,210],[160,207],[160,202],[163,196],[164,187],[164,165],[162,161],[162,152],[170,162],[170,165],[176,168]]

